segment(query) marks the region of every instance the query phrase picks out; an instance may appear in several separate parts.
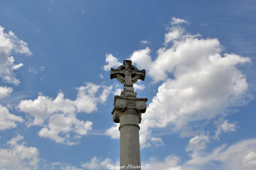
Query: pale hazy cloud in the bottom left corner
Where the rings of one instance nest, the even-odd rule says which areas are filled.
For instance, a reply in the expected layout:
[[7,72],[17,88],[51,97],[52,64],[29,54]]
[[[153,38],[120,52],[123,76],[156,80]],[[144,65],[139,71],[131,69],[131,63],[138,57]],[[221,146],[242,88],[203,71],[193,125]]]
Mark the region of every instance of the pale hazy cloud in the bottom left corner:
[[0,149],[0,169],[37,169],[39,151],[19,144],[22,139],[23,136],[17,135],[6,143],[9,148]]

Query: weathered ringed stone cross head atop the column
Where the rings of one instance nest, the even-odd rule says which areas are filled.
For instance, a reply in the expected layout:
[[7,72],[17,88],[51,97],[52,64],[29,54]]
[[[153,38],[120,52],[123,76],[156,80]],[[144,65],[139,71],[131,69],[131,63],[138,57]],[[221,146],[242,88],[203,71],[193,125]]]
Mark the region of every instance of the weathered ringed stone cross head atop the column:
[[131,60],[124,60],[124,64],[117,69],[110,69],[110,79],[116,78],[125,86],[131,86],[139,79],[144,81],[146,72],[131,65]]

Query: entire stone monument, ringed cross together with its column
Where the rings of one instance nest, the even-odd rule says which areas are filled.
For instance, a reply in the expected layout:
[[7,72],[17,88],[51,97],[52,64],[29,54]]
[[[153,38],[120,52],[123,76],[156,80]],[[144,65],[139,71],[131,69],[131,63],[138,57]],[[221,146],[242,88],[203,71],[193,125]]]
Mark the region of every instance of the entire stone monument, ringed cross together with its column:
[[139,79],[145,79],[145,70],[138,70],[130,60],[117,69],[111,68],[110,79],[124,84],[120,96],[114,98],[113,121],[120,123],[120,166],[124,169],[141,169],[139,130],[141,114],[146,112],[147,98],[137,98],[132,87]]

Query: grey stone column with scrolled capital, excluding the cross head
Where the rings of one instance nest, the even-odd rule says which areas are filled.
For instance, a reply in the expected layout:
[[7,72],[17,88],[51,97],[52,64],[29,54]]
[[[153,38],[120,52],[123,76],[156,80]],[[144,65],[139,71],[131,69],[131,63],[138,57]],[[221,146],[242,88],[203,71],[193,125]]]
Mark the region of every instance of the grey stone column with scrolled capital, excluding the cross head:
[[141,113],[146,111],[147,98],[135,98],[136,92],[133,90],[132,87],[126,87],[121,96],[115,96],[112,111],[113,121],[120,122],[120,166],[125,166],[125,169],[134,169],[136,166],[138,168],[135,169],[141,169],[139,123]]

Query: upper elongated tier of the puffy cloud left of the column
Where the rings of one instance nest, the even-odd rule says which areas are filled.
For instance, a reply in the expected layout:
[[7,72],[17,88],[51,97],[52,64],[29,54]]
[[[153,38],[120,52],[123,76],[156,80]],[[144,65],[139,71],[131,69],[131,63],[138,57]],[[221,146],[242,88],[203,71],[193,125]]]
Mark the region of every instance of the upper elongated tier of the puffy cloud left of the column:
[[[99,93],[99,88],[103,90]],[[29,113],[34,117],[30,125],[41,125],[54,113],[74,114],[76,112],[91,113],[97,110],[97,104],[106,101],[112,86],[100,86],[93,83],[85,83],[85,86],[77,87],[75,100],[65,99],[63,92],[59,92],[55,99],[43,96],[39,93],[37,99],[22,100],[17,106],[20,111]]]

